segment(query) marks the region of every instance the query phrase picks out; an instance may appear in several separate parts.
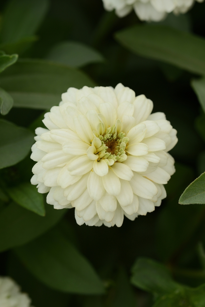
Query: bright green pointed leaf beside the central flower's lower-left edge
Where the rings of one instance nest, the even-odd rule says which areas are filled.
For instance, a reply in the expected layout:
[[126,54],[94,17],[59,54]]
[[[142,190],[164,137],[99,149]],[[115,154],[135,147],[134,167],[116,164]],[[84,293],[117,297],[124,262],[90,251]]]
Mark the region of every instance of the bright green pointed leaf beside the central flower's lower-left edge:
[[43,195],[38,193],[36,186],[26,182],[16,187],[8,188],[7,192],[20,206],[33,211],[40,216],[45,216]]

